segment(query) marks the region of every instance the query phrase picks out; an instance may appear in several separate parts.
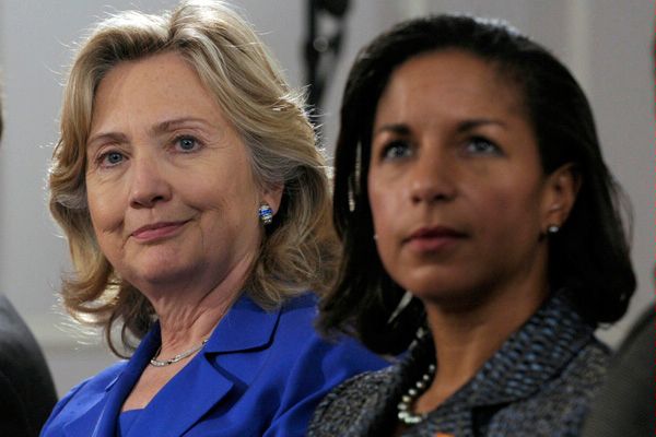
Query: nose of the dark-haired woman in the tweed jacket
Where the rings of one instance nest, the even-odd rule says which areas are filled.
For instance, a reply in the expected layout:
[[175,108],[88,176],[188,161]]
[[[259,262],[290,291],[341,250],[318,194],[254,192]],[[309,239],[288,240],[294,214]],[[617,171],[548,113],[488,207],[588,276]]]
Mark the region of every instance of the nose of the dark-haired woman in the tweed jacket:
[[424,144],[410,176],[412,203],[448,201],[456,196],[457,163],[437,144]]

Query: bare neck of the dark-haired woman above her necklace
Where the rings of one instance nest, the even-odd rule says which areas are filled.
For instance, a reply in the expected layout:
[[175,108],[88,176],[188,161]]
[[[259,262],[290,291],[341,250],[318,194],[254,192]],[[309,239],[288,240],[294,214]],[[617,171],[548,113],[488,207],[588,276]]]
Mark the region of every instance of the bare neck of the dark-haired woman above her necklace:
[[540,307],[548,295],[543,283],[490,293],[491,298],[467,308],[424,302],[437,369],[430,388],[417,402],[418,412],[435,410],[477,374]]

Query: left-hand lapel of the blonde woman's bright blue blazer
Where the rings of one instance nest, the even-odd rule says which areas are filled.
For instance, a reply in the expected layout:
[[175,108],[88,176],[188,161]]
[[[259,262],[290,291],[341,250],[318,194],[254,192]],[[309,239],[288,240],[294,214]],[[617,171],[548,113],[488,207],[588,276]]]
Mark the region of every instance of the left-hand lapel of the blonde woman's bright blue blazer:
[[67,436],[79,437],[113,437],[116,435],[116,421],[120,409],[150,358],[160,346],[160,326],[155,324],[126,368],[105,388],[105,394],[99,401],[77,420],[65,426]]

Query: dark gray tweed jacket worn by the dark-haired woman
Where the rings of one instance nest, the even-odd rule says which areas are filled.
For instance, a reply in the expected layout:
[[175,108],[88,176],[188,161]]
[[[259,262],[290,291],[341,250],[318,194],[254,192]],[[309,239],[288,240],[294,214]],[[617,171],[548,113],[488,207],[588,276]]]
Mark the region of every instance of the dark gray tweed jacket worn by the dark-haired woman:
[[[356,376],[319,404],[308,437],[389,436],[397,404],[434,359],[427,335],[401,363]],[[577,436],[609,350],[562,296],[549,299],[477,375],[407,437]]]

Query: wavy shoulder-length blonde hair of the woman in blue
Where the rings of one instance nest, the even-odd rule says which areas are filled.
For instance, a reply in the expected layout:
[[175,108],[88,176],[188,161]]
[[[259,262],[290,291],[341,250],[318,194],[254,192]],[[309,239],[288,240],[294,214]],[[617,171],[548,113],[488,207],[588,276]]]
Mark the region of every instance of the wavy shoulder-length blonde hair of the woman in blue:
[[94,94],[119,62],[171,51],[197,71],[241,134],[257,182],[284,185],[245,290],[272,308],[308,288],[324,293],[335,272],[324,155],[315,146],[302,97],[292,93],[249,24],[219,1],[185,1],[163,15],[114,15],[97,25],[73,61],[49,187],[50,211],[68,237],[73,261],[72,274],[62,280],[63,306],[75,320],[103,327],[119,356],[113,328],[120,327],[121,345],[129,351],[131,339],[141,339],[155,315],[150,302],[115,273],[91,224],[85,166]]

